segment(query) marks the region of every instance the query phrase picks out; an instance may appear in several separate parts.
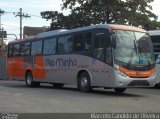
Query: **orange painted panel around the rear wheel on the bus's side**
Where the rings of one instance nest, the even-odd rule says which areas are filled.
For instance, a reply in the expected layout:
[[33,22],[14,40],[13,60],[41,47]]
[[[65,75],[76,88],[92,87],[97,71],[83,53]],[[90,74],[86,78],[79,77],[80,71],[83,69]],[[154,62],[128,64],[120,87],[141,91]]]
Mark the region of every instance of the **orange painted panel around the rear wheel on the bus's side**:
[[[24,66],[26,65],[26,66]],[[35,62],[26,63],[24,57],[8,58],[7,76],[25,79],[25,73],[30,70],[34,79],[46,79],[46,70],[43,56],[35,56]]]

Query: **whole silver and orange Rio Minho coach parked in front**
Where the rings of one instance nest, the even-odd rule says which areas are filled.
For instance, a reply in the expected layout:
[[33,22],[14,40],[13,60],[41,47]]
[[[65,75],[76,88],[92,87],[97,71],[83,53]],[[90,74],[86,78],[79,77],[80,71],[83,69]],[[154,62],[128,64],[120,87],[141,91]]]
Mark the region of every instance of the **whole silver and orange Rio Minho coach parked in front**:
[[40,33],[8,44],[7,76],[29,87],[51,83],[94,87],[155,85],[155,59],[148,33],[125,25],[94,25]]

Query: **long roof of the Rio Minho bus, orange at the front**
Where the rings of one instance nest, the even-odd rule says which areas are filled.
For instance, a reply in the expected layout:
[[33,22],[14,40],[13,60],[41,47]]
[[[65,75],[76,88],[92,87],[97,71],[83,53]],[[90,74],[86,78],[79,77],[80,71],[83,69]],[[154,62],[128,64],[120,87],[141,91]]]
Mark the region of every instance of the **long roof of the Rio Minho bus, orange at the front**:
[[35,36],[33,38],[11,41],[9,43],[23,42],[23,41],[27,41],[27,40],[31,40],[31,39],[46,38],[46,37],[51,37],[51,36],[55,36],[55,35],[63,35],[63,34],[67,34],[67,33],[80,32],[80,31],[91,30],[91,29],[99,29],[99,28],[105,28],[105,29],[108,29],[109,31],[112,31],[112,30],[128,30],[128,31],[137,31],[137,32],[147,32],[143,29],[136,28],[136,27],[133,27],[133,26],[127,26],[127,25],[99,24],[99,25],[91,25],[91,26],[86,26],[86,27],[70,29],[70,30],[59,29],[59,30],[54,30],[54,31],[49,31],[49,32],[43,32],[43,33],[39,33],[37,36]]

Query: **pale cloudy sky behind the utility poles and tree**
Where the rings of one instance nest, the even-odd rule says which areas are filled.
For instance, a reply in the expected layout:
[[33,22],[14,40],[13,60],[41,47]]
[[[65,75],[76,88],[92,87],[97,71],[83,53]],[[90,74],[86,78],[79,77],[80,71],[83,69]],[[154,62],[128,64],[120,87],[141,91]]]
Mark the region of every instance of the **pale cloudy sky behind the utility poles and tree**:
[[[15,17],[13,12],[19,12],[19,9],[22,8],[23,13],[27,13],[31,18],[23,18],[23,26],[50,26],[51,21],[46,21],[40,16],[42,11],[59,11],[64,14],[68,14],[68,10],[61,10],[62,0],[0,0],[0,9],[4,10],[5,13],[1,16],[1,27],[7,34],[16,34],[19,38],[20,24],[19,17]],[[160,0],[154,0],[151,3],[153,8],[153,13],[158,16],[160,21]],[[9,40],[14,40],[15,36],[8,35]]]

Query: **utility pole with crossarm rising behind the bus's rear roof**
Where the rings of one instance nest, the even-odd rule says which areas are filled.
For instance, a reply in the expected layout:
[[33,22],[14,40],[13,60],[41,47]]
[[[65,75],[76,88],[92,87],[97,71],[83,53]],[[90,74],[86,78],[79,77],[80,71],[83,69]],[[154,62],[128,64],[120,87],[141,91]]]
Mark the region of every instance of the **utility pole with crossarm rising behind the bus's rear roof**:
[[16,17],[17,16],[20,18],[20,39],[22,39],[22,19],[23,18],[28,18],[28,17],[31,17],[31,16],[29,16],[26,13],[22,13],[22,8],[20,8],[20,12],[17,13]]

